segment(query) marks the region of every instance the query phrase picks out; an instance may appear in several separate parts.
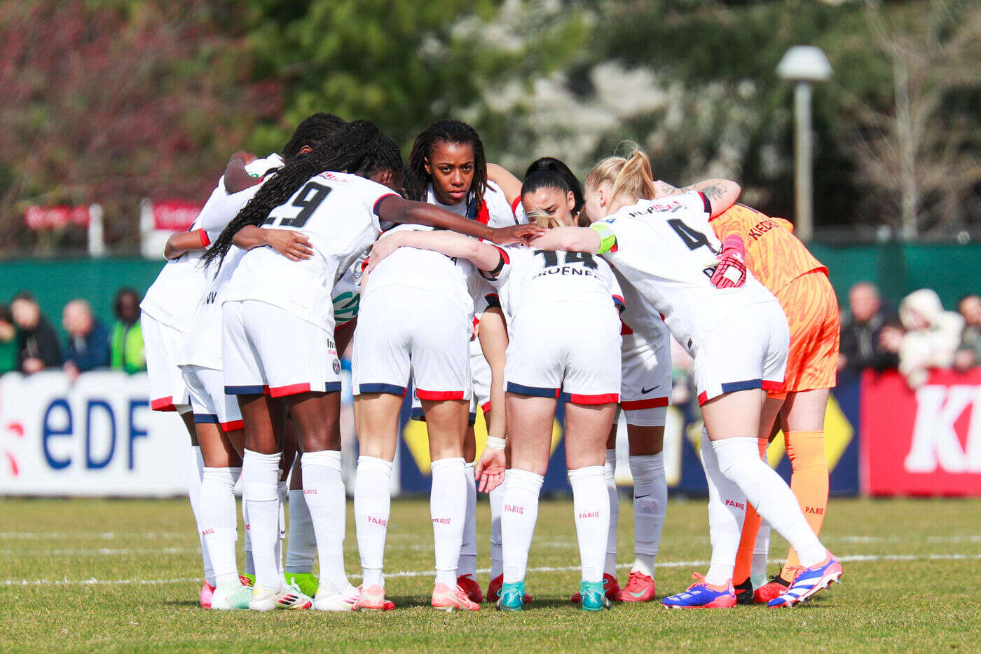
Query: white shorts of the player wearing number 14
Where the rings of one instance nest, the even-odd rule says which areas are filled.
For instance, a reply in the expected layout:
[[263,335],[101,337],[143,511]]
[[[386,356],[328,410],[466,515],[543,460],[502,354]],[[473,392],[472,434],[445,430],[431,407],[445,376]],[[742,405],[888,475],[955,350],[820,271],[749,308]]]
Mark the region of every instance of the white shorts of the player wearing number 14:
[[511,322],[508,393],[578,405],[620,401],[620,319],[612,302],[531,303]]

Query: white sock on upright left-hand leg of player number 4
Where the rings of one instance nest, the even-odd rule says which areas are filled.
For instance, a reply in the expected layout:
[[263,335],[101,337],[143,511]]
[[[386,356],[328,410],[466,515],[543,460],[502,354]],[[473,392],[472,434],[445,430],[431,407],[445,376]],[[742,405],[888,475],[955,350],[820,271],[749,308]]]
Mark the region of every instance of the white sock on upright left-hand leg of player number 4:
[[[746,496],[739,486],[722,474],[712,445],[702,429],[701,466],[708,481],[708,536],[712,543],[712,558],[705,582],[721,585],[730,582],[736,568],[736,553],[746,518]],[[759,461],[758,452],[756,461]]]

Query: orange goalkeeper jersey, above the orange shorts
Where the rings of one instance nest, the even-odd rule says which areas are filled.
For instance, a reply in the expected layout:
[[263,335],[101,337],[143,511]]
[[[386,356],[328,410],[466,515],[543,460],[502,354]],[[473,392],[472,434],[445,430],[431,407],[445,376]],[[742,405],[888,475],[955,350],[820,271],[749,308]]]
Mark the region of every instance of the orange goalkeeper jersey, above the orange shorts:
[[719,239],[730,234],[743,237],[747,268],[770,293],[779,293],[812,270],[828,274],[827,267],[794,236],[794,225],[783,218],[770,218],[744,204],[734,204],[712,218],[711,225]]

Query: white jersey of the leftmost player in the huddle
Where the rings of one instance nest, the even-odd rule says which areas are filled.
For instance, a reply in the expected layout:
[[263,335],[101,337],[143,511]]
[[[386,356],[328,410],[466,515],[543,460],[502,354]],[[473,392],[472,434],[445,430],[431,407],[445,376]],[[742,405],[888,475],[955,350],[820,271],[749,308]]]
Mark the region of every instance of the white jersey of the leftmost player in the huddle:
[[[283,159],[274,153],[264,159],[256,159],[246,165],[245,170],[254,177],[262,177],[282,165]],[[229,193],[225,191],[225,177],[222,176],[188,231],[203,229],[207,233],[206,240],[210,244],[218,238],[225,226],[245,205],[245,202],[251,199],[257,189],[256,186],[245,191]],[[198,265],[201,254],[203,250],[191,250],[168,261],[153,285],[147,289],[140,308],[160,322],[186,332],[190,328],[197,302],[209,283],[209,277]]]

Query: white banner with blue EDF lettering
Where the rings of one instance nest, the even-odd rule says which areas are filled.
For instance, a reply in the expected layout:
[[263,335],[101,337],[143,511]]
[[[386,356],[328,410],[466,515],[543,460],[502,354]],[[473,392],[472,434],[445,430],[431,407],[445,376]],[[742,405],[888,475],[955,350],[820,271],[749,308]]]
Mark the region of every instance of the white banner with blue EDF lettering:
[[146,373],[0,377],[0,494],[185,494],[187,431],[148,395]]

